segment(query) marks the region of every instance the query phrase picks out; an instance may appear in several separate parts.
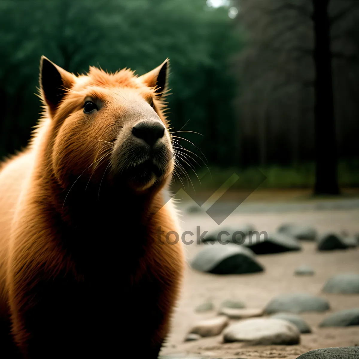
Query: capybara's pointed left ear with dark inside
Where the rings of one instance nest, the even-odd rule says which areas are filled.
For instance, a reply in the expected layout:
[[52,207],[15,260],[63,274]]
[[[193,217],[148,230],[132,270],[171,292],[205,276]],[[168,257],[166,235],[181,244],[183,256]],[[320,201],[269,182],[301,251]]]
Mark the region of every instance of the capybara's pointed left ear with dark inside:
[[55,65],[45,56],[40,61],[40,89],[43,100],[48,105],[50,115],[53,116],[57,106],[75,83],[75,76]]

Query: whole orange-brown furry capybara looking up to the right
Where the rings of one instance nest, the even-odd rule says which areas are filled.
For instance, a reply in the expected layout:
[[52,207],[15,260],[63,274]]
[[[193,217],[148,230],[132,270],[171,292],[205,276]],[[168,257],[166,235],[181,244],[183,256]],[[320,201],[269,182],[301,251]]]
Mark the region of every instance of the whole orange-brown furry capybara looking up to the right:
[[167,67],[75,76],[42,57],[43,118],[0,172],[1,358],[157,358],[183,271],[158,238],[179,230]]

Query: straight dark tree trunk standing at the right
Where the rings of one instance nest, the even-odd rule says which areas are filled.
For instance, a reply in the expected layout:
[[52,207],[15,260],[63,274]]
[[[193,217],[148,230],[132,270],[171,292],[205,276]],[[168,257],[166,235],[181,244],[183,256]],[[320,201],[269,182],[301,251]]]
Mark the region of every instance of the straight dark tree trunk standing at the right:
[[316,195],[339,194],[328,3],[313,0]]

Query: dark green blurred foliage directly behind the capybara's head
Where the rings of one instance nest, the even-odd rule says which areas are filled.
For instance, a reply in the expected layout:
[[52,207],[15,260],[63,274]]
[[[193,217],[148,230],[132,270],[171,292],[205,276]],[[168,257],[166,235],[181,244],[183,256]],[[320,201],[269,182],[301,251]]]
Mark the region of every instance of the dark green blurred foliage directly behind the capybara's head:
[[211,162],[232,161],[235,82],[227,69],[241,40],[227,11],[204,0],[0,1],[0,156],[25,146],[37,121],[41,55],[74,73],[93,65],[139,75],[169,57],[173,131],[189,120],[183,130],[203,136],[176,135]]

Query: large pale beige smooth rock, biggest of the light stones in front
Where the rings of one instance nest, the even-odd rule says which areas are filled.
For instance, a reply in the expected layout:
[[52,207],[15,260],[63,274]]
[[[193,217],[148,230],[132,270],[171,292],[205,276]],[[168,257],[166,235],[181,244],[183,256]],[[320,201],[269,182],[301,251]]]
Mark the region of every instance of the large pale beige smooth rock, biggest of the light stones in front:
[[245,341],[250,345],[299,344],[297,327],[285,320],[253,318],[234,323],[223,333],[225,342]]

